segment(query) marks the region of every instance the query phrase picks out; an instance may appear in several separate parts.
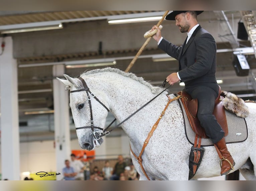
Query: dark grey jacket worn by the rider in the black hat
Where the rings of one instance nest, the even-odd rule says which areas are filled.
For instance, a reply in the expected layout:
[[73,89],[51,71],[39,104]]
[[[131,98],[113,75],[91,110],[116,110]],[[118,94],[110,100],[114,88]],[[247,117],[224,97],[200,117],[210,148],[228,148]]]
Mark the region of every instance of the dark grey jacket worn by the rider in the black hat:
[[207,85],[216,90],[216,42],[200,25],[187,44],[185,40],[182,46],[176,46],[162,39],[158,48],[179,61],[179,77],[185,87]]

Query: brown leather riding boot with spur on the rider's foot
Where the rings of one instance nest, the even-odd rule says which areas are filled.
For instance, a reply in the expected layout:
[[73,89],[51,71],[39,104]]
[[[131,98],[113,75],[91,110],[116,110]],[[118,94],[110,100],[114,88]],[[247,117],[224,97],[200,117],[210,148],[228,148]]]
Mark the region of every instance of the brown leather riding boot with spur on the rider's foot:
[[225,138],[223,137],[219,142],[215,143],[214,146],[221,159],[221,175],[228,174],[231,170],[234,170],[236,163],[228,151]]

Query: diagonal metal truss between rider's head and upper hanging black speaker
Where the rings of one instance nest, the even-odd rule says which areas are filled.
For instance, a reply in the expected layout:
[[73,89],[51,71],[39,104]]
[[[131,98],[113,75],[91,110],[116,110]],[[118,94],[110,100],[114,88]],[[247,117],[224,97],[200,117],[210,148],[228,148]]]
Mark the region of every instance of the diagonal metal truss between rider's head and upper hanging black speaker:
[[224,11],[213,11],[213,12],[218,17],[220,21],[220,26],[224,31],[224,35],[220,35],[220,37],[227,39],[230,42],[232,48],[238,48],[239,42],[235,37],[235,33],[229,23],[228,17],[226,16],[225,12]]

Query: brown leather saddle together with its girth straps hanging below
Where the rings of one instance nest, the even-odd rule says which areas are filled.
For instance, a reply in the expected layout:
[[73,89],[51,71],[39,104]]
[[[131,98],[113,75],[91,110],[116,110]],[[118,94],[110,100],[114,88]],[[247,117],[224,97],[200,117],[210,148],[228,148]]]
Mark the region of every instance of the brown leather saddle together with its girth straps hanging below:
[[[204,149],[204,147],[201,147],[202,137],[203,138],[209,138],[209,137],[206,135],[205,129],[201,126],[200,121],[197,117],[198,100],[192,99],[191,96],[185,91],[178,92],[177,94],[181,95],[180,99],[184,106],[185,112],[187,114],[187,118],[189,120],[189,123],[190,123],[193,131],[196,133],[194,146],[191,147],[190,155],[189,155],[188,180],[190,180],[196,174],[196,172],[201,164],[202,158],[204,156],[205,149]],[[219,95],[218,95],[217,99],[215,100],[213,114],[215,115],[220,126],[222,127],[222,129],[225,133],[224,136],[227,136],[228,135],[228,124],[227,124],[225,108],[224,108],[223,102],[221,101],[220,86],[219,86]]]

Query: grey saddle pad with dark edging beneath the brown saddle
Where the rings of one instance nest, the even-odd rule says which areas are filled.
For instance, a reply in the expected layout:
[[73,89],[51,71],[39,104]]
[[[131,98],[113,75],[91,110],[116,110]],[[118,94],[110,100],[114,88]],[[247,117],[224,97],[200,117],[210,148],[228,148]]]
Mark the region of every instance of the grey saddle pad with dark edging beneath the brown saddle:
[[[189,143],[194,145],[196,133],[192,130],[189,120],[187,118],[186,112],[184,110],[183,104],[180,103],[179,105],[182,109],[182,115],[184,119],[184,127],[185,127],[185,134],[186,138]],[[235,143],[235,142],[243,142],[248,137],[248,130],[245,118],[237,117],[236,114],[228,111],[225,109],[227,123],[228,123],[228,130],[229,133],[225,136],[226,143]],[[202,146],[213,146],[213,142],[209,138],[202,138]]]

